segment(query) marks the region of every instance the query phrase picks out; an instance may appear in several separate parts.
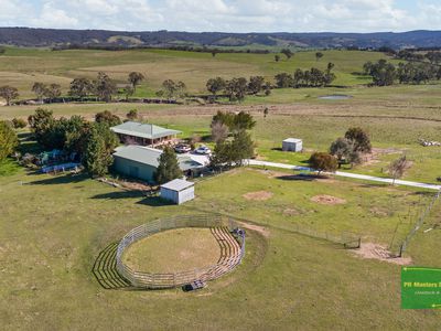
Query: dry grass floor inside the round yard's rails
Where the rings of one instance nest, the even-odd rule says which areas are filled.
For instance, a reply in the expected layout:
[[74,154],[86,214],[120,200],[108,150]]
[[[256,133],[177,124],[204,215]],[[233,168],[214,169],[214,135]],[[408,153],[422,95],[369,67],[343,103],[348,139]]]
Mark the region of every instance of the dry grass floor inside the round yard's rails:
[[132,270],[179,273],[215,265],[220,247],[209,228],[176,228],[140,239],[127,248],[123,263]]

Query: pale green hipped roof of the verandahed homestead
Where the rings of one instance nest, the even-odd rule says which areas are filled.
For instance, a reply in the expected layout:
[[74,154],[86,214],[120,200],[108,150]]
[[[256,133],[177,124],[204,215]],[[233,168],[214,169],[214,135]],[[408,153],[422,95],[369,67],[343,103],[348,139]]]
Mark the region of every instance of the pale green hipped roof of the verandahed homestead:
[[128,135],[147,139],[158,139],[181,134],[181,131],[178,130],[165,129],[155,125],[142,124],[137,121],[126,121],[119,126],[111,127],[110,130],[120,135]]

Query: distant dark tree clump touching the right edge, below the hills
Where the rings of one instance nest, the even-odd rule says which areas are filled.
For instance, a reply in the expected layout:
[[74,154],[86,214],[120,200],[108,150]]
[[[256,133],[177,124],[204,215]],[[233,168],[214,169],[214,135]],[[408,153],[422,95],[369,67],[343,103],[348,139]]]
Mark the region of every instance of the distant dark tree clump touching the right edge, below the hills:
[[398,79],[400,84],[421,84],[441,79],[441,67],[429,63],[400,62],[398,66],[386,60],[366,62],[364,74],[373,77],[376,86],[389,86]]

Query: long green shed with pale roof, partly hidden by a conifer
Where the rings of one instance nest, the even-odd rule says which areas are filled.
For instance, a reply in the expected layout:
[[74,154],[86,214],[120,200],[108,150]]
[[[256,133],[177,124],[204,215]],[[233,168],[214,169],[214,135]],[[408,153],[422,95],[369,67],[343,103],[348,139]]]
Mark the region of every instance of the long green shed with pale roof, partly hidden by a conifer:
[[[118,147],[114,153],[114,170],[123,175],[154,182],[153,177],[159,166],[162,150],[150,147],[129,145]],[[205,168],[189,156],[178,156],[181,170],[186,177],[197,175]]]

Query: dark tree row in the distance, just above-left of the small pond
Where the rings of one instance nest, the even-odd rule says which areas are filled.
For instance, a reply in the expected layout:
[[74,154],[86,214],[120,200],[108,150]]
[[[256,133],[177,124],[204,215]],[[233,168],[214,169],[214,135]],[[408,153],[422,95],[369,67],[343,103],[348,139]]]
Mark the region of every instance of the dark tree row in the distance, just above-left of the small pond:
[[312,67],[309,71],[298,68],[292,75],[280,73],[275,77],[276,85],[279,88],[327,86],[335,79],[335,74],[332,72],[334,64],[330,62],[324,71]]

